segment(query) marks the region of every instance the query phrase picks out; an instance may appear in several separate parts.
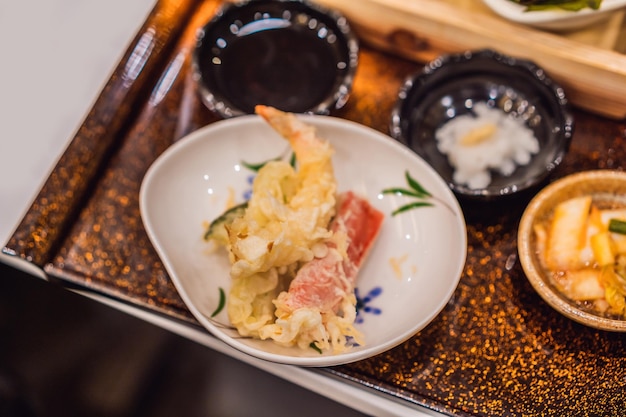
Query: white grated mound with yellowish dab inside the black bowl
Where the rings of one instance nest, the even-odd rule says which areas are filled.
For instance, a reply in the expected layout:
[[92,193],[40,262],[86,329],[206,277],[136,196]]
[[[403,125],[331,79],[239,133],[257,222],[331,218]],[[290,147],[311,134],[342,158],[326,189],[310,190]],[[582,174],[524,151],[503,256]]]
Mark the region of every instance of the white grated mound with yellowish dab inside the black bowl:
[[[472,189],[491,183],[491,170],[509,176],[539,152],[539,141],[519,118],[481,102],[439,130],[437,148],[454,167],[453,181]],[[494,128],[491,128],[495,126]]]

